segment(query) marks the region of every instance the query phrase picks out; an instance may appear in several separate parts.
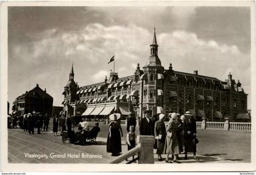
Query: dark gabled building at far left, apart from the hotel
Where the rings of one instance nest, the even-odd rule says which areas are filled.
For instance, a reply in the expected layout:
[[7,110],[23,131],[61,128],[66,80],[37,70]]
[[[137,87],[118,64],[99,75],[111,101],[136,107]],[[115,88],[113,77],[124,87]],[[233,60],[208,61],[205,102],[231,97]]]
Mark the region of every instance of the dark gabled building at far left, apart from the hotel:
[[37,84],[34,89],[26,91],[13,102],[13,114],[18,116],[31,112],[41,112],[42,114],[52,114],[53,98],[46,93],[46,89],[41,89]]

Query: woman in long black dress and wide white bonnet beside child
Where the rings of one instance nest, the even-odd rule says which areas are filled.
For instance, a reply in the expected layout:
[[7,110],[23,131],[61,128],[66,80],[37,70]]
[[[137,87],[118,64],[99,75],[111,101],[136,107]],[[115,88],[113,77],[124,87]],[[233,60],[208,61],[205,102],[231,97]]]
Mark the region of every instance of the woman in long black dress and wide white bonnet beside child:
[[121,114],[110,115],[109,133],[107,137],[107,153],[112,153],[112,156],[118,156],[122,152],[121,137],[123,131],[120,123],[118,122]]

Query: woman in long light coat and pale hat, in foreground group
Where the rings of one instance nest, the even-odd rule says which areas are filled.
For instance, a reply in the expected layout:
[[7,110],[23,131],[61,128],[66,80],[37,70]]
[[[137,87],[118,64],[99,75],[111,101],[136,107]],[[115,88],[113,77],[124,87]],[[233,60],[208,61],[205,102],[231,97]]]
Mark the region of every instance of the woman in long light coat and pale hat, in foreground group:
[[179,132],[178,128],[178,122],[176,120],[176,113],[173,112],[171,114],[171,118],[168,122],[167,126],[167,135],[165,140],[165,153],[166,153],[166,159],[165,162],[172,163],[171,160],[169,160],[169,154],[174,155],[173,162],[174,163],[180,163],[177,161],[177,156],[180,154],[180,148],[179,148],[179,141],[177,139],[177,132]]

